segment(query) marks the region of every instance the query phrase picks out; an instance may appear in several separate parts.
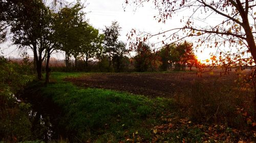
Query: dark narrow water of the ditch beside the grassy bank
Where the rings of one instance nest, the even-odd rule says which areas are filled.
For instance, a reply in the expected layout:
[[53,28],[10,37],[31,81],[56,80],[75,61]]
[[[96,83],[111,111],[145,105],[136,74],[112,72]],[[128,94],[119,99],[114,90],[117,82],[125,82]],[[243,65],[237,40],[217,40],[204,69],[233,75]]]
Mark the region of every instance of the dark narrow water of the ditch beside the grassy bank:
[[29,118],[34,138],[49,142],[59,138],[68,138],[65,126],[61,125],[61,109],[53,103],[51,97],[45,97],[39,90],[25,89],[18,98],[31,104]]

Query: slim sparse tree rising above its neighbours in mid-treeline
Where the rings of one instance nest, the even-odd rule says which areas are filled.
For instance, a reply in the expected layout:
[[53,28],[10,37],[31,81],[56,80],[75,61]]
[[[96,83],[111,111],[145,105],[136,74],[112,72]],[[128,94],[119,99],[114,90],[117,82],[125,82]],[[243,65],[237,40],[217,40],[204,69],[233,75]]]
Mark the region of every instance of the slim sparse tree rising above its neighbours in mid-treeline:
[[[104,51],[109,56],[109,69],[111,67],[111,61],[116,54],[118,37],[120,36],[121,27],[117,21],[112,21],[111,26],[105,26],[104,35]],[[114,67],[114,63],[113,63]]]

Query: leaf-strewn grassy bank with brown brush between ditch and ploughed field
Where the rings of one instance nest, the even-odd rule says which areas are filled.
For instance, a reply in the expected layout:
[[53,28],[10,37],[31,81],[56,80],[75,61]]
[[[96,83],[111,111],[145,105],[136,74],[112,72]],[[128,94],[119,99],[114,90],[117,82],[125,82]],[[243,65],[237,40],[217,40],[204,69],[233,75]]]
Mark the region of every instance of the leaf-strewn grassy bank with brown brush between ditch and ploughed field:
[[244,111],[236,113],[234,107],[238,104],[230,100],[229,89],[212,90],[196,83],[194,90],[182,93],[184,98],[152,99],[125,92],[84,89],[63,80],[86,74],[90,73],[53,72],[47,87],[37,83],[41,94],[61,108],[58,126],[65,130],[64,137],[67,137],[62,142],[255,140],[250,128],[242,131],[233,128],[237,124],[230,124],[238,121],[247,127],[248,117],[242,116]]

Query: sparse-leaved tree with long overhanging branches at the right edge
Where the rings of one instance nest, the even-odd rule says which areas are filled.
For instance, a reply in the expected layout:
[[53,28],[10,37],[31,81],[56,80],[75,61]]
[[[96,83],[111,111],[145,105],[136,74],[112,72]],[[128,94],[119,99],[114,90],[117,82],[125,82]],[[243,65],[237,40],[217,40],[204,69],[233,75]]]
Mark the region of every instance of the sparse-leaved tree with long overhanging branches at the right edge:
[[[166,20],[172,19],[175,14],[189,10],[191,14],[187,19],[181,19],[183,24],[181,27],[172,28],[158,34],[147,34],[145,37],[139,37],[139,41],[146,41],[154,36],[163,35],[168,37],[172,41],[180,41],[186,37],[198,37],[198,46],[206,43],[207,41],[214,40],[214,45],[205,44],[206,47],[219,47],[225,46],[229,43],[229,47],[236,49],[236,53],[227,52],[221,58],[228,57],[222,61],[222,64],[226,63],[249,63],[253,65],[256,61],[256,18],[255,7],[256,1],[253,0],[217,0],[217,1],[205,1],[205,0],[177,0],[177,1],[158,1],[158,0],[126,0],[126,4],[142,5],[146,2],[152,2],[159,13],[156,19],[159,22],[165,23]],[[198,17],[198,15],[205,15],[204,17]],[[196,25],[197,19],[206,21],[211,16],[220,16],[223,20],[217,24],[211,22],[204,26]],[[202,23],[202,22],[200,22]],[[135,31],[132,31],[129,38],[135,35]],[[164,41],[162,41],[164,43]],[[136,43],[131,46],[136,47]],[[241,51],[241,47],[246,47]],[[244,53],[249,53],[251,56],[244,58]],[[221,53],[223,54],[223,52]],[[229,60],[229,61],[227,61]],[[231,61],[233,60],[233,61]],[[231,65],[231,64],[228,64]],[[227,68],[228,69],[228,68]],[[253,79],[255,74],[251,76]],[[252,80],[253,81],[253,80]],[[254,110],[256,110],[256,84],[253,81],[255,97],[254,97]]]

